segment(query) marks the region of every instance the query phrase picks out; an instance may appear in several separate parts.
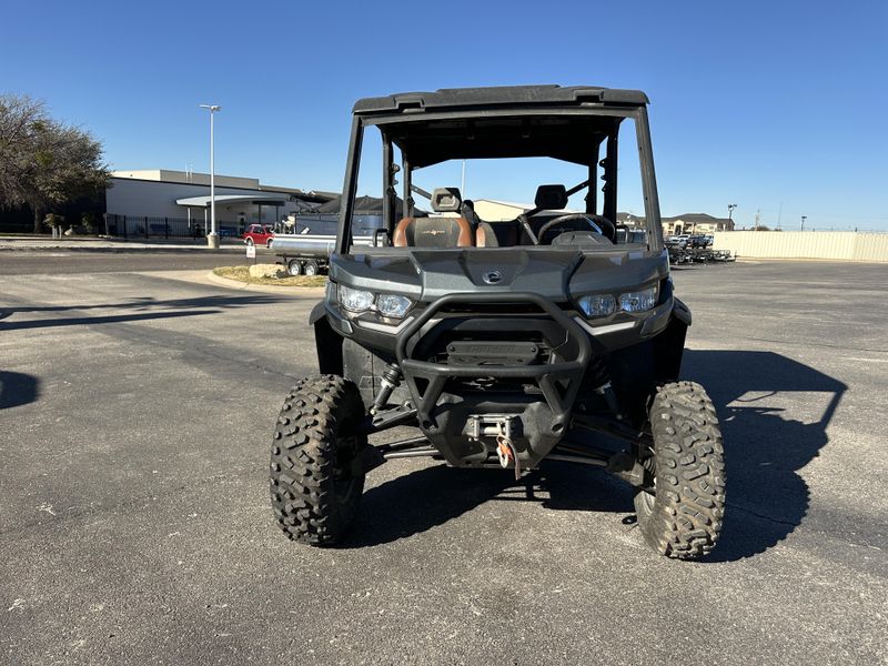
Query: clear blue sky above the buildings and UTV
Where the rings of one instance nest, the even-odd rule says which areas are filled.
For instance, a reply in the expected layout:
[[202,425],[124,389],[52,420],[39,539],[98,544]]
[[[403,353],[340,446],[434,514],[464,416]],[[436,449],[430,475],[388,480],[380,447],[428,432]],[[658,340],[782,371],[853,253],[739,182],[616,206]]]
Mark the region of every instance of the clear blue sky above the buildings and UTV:
[[878,1],[17,2],[0,91],[90,130],[114,169],[206,171],[198,104],[222,104],[219,173],[339,190],[356,98],[640,88],[664,214],[888,231],[886,26]]

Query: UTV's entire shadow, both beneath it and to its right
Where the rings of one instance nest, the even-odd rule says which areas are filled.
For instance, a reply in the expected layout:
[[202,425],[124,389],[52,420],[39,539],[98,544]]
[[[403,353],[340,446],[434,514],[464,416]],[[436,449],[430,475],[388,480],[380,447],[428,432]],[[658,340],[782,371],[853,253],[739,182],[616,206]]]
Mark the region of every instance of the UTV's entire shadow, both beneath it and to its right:
[[[722,541],[707,561],[761,553],[786,538],[805,517],[809,493],[798,470],[827,444],[826,427],[847,386],[771,352],[687,351],[683,374],[709,392],[725,437],[728,508]],[[779,392],[823,393],[828,404],[819,421],[803,423],[759,404]],[[746,397],[748,393],[763,395]],[[597,470],[567,463],[544,461],[521,482],[497,470],[436,465],[369,490],[343,547],[405,538],[491,500],[628,514],[634,511],[632,497],[629,486]]]

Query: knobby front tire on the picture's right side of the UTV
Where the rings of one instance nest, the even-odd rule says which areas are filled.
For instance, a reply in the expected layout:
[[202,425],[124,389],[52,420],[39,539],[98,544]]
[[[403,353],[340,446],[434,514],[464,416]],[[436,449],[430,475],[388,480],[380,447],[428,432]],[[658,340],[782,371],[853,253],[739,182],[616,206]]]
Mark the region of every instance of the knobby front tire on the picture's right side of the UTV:
[[713,401],[695,382],[657,389],[649,411],[655,492],[635,496],[645,541],[660,555],[693,559],[715,547],[725,515],[725,460]]

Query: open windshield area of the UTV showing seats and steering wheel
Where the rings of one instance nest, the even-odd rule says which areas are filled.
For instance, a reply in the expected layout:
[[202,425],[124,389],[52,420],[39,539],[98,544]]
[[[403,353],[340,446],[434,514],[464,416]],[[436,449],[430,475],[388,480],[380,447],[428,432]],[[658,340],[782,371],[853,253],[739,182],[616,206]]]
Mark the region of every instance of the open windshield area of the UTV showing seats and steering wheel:
[[649,249],[637,138],[630,114],[369,124],[349,246]]

